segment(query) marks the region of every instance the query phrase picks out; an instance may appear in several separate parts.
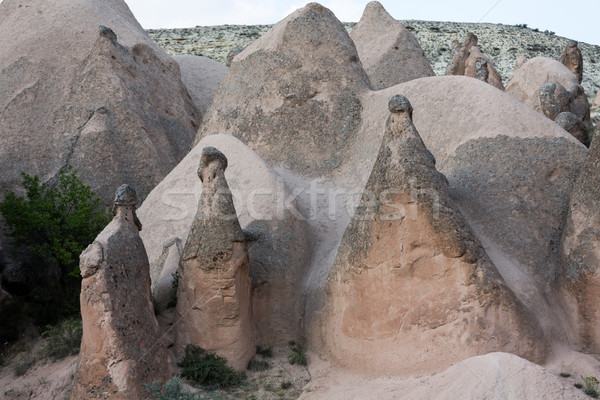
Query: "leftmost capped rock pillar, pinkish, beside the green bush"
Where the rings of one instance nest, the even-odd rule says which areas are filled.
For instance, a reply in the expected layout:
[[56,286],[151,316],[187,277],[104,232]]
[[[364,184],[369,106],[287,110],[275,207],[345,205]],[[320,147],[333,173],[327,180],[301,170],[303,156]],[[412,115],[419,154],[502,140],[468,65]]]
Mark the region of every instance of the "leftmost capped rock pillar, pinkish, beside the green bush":
[[72,399],[139,399],[173,375],[150,294],[137,195],[117,190],[114,218],[81,254],[83,338]]

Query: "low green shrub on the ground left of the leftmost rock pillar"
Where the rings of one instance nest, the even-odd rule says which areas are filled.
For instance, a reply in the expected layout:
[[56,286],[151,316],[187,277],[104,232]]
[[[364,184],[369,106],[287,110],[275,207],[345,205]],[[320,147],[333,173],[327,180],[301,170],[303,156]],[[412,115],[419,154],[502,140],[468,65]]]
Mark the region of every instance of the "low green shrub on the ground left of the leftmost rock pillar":
[[81,320],[68,319],[55,326],[47,326],[42,333],[46,339],[40,355],[54,360],[79,353],[83,327]]

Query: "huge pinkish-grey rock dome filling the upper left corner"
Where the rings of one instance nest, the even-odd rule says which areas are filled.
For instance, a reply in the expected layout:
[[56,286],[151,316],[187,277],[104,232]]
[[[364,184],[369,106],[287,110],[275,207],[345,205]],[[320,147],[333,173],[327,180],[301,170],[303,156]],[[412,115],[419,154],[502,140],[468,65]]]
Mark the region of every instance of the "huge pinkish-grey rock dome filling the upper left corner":
[[72,165],[105,205],[123,181],[144,198],[189,151],[179,67],[123,0],[4,0],[0,35],[0,195]]

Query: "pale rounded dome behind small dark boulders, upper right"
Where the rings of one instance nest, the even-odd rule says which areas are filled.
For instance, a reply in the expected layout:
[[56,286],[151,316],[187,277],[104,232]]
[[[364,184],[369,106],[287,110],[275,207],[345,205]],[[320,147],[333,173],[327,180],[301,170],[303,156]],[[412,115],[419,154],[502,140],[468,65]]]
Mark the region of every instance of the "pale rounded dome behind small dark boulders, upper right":
[[542,112],[539,90],[547,83],[558,83],[571,93],[569,110],[584,122],[590,120],[590,109],[583,87],[577,77],[560,62],[546,57],[528,60],[513,74],[506,86],[506,93]]

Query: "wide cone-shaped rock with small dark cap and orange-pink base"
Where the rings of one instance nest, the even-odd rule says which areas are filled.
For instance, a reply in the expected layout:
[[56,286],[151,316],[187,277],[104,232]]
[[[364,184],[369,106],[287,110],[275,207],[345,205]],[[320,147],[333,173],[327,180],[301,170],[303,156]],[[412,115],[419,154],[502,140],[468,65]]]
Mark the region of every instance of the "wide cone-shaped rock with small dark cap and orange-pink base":
[[449,195],[404,96],[391,114],[319,313],[323,350],[367,373],[423,372],[546,344]]

